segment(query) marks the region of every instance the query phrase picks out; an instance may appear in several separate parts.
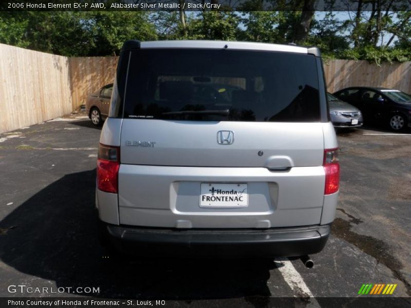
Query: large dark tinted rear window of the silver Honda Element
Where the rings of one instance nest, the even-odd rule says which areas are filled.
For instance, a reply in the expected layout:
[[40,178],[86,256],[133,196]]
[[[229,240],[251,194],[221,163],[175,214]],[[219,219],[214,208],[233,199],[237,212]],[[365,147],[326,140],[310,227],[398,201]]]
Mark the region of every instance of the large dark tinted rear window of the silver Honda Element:
[[318,83],[315,57],[307,54],[134,50],[124,118],[317,122]]

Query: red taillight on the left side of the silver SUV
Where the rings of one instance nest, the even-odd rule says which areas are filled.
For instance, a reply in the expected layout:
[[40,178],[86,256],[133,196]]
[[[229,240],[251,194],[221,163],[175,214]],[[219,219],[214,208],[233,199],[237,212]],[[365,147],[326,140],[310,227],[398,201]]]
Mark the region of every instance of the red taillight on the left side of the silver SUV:
[[120,168],[120,148],[99,145],[97,159],[97,187],[106,192],[118,192],[118,174]]

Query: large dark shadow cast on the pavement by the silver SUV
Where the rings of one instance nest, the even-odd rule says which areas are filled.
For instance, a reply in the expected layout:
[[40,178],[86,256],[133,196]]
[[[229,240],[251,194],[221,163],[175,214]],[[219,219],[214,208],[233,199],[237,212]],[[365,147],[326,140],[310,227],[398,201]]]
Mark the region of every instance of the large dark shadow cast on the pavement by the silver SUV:
[[[97,241],[96,170],[64,176],[0,222],[0,256],[57,287],[100,287],[102,298],[212,299],[269,296],[269,260],[107,258]],[[5,277],[7,278],[7,277]],[[41,284],[41,285],[35,285]],[[48,284],[47,284],[48,285]],[[30,286],[45,286],[32,282]]]

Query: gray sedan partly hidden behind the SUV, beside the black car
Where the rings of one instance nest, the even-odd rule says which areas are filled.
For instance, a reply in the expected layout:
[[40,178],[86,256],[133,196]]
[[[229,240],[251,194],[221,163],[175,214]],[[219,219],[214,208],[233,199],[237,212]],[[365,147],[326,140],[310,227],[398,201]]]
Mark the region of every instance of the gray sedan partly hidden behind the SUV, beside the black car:
[[331,122],[334,127],[360,127],[363,115],[356,107],[347,104],[331,93],[327,94]]

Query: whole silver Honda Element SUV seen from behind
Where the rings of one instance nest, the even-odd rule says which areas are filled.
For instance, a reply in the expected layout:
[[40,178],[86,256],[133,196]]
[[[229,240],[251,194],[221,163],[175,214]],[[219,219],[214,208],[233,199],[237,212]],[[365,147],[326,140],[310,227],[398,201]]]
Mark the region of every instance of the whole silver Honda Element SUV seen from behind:
[[339,176],[319,49],[124,43],[97,168],[100,234],[111,246],[318,253]]

